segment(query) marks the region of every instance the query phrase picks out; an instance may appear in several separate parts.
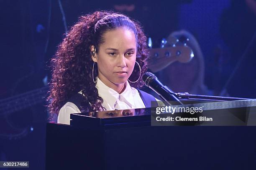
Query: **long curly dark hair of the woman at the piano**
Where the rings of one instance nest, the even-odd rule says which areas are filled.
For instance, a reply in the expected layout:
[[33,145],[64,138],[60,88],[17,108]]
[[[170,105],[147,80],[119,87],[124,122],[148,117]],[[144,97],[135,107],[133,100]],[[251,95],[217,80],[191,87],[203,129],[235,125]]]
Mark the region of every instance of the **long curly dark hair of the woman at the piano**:
[[[84,15],[67,32],[67,36],[58,46],[57,52],[51,59],[52,77],[47,101],[51,116],[59,113],[66,101],[82,90],[84,99],[81,102],[83,111],[105,110],[103,99],[99,96],[92,79],[92,65],[90,47],[97,47],[104,41],[103,34],[118,27],[125,26],[135,33],[137,40],[136,61],[141,66],[141,75],[147,70],[148,50],[146,36],[138,22],[127,16],[111,11],[96,11]],[[98,75],[97,64],[94,76]],[[140,75],[138,67],[134,67],[129,80],[136,81]],[[142,76],[132,87],[142,87]],[[81,110],[82,111],[82,110]]]

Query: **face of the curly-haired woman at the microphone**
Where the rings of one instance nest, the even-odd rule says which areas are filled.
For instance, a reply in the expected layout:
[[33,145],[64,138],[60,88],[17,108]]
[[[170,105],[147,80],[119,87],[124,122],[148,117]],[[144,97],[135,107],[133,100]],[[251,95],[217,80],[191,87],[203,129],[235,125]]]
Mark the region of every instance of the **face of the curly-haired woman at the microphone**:
[[121,85],[133,72],[136,61],[136,38],[133,31],[120,27],[105,32],[104,43],[100,44],[95,57],[98,77],[107,86]]

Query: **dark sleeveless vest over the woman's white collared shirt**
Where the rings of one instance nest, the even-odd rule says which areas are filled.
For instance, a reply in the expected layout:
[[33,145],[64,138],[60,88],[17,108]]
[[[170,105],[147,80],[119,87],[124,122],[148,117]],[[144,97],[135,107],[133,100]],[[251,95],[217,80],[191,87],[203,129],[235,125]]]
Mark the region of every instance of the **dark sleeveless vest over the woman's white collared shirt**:
[[[139,90],[139,89],[137,89],[137,90],[141,96],[141,99],[142,99],[145,107],[151,107],[151,101],[156,101],[155,97],[142,91],[142,90]],[[74,103],[81,111],[82,110],[82,108],[81,108],[82,99],[83,99],[83,95],[80,93],[77,93],[77,94],[73,95],[71,98],[69,98],[69,100],[67,100],[67,102]]]

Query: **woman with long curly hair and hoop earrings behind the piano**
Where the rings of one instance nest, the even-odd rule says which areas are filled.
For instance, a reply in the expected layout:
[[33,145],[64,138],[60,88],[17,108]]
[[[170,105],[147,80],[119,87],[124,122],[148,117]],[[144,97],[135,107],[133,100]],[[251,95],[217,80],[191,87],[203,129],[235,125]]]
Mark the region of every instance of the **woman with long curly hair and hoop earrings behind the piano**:
[[141,27],[125,15],[80,17],[51,60],[49,112],[69,124],[71,113],[150,107],[156,99],[136,89],[143,86],[147,58]]

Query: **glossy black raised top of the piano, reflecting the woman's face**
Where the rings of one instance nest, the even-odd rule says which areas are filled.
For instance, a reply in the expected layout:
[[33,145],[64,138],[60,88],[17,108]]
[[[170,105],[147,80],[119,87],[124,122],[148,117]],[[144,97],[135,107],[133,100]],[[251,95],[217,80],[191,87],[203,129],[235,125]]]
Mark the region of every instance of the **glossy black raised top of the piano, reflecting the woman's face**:
[[[163,125],[256,125],[256,99],[236,100],[236,101],[215,101],[215,102],[193,102],[179,105],[179,107],[191,108],[191,111],[161,111],[156,113],[156,107],[113,110],[102,112],[85,112],[71,114],[70,125],[91,129],[111,129],[111,128],[132,128],[139,126],[163,126]],[[166,106],[178,107],[178,105]],[[195,107],[198,107],[195,112]],[[201,112],[199,108],[201,107]],[[158,107],[158,111],[159,111]],[[188,109],[190,110],[190,109]],[[152,114],[151,114],[152,113]],[[159,115],[160,114],[160,115]],[[159,118],[173,117],[159,121]],[[176,120],[178,117],[178,120]],[[193,118],[191,121],[181,120],[182,118]],[[201,120],[202,117],[209,118]],[[109,119],[110,118],[110,119]],[[211,119],[210,119],[211,118]]]

